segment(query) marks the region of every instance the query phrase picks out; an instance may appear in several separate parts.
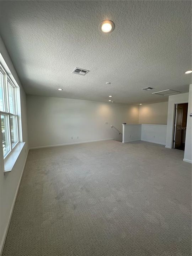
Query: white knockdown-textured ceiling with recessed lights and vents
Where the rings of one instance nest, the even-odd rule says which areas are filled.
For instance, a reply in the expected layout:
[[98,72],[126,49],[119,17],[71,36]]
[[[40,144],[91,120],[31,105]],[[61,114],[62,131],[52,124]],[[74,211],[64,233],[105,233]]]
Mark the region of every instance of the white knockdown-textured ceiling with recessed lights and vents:
[[[0,1],[0,9],[27,94],[138,104],[168,100],[154,91],[188,91],[191,1]],[[115,23],[110,34],[98,30],[105,19]],[[71,74],[75,67],[90,72]]]

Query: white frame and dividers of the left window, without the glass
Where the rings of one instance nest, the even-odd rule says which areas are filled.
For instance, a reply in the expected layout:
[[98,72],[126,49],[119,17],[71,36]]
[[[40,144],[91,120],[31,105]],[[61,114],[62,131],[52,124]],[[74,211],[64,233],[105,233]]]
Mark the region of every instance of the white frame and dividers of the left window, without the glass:
[[[12,150],[16,147],[16,145],[19,143],[19,131],[18,131],[18,112],[17,112],[17,93],[16,93],[16,87],[14,82],[10,79],[9,75],[7,75],[5,69],[3,68],[3,66],[0,64],[0,72],[3,75],[3,81],[4,81],[4,85],[3,85],[3,98],[4,98],[4,111],[0,110],[0,115],[4,115],[7,116],[7,121],[8,121],[8,129],[9,129],[9,152],[4,156],[4,160],[11,154]],[[10,113],[10,105],[9,105],[9,85],[14,89],[13,90],[13,103],[14,103],[14,113]],[[16,117],[16,135],[17,135],[17,142],[15,144],[12,145],[11,142],[11,116],[15,116]],[[1,132],[1,131],[0,131]]]

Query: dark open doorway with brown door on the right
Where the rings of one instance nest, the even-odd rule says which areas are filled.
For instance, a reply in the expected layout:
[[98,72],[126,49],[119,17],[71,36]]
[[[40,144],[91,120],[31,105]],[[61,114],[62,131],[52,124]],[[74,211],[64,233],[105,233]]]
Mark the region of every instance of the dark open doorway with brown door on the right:
[[188,103],[175,104],[173,148],[185,150]]

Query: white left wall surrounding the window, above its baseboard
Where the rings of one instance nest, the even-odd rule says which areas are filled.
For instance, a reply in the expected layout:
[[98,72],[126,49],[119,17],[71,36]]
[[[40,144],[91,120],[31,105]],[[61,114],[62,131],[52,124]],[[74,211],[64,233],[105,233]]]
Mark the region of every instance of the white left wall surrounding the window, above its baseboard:
[[[3,153],[0,150],[0,254],[4,245],[7,228],[9,227],[9,220],[11,217],[12,209],[14,206],[16,193],[20,178],[22,175],[23,166],[25,164],[25,159],[28,151],[28,139],[27,139],[27,118],[26,118],[26,96],[21,83],[18,79],[17,73],[14,66],[10,60],[9,54],[5,48],[2,39],[0,38],[0,52],[4,58],[6,64],[14,76],[17,84],[20,86],[21,95],[21,124],[22,124],[22,138],[26,142],[24,148],[22,149],[20,156],[18,157],[16,164],[11,172],[4,175],[4,165],[3,165]],[[0,141],[2,138],[0,138]],[[1,147],[0,147],[1,148]]]

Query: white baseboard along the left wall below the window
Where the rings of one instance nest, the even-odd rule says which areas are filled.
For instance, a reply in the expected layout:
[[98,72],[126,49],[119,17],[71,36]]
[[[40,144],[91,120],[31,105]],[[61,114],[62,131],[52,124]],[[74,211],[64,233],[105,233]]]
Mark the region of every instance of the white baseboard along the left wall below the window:
[[22,175],[23,175],[23,171],[25,169],[25,164],[26,164],[26,161],[27,161],[28,152],[29,152],[29,150],[27,151],[27,154],[26,154],[26,158],[25,158],[25,162],[24,162],[23,169],[22,169],[22,172],[21,172],[21,176],[20,176],[20,179],[19,179],[19,182],[18,182],[18,185],[17,185],[17,189],[16,189],[16,192],[15,192],[15,196],[14,196],[14,199],[13,199],[13,202],[12,202],[12,205],[11,205],[11,210],[10,210],[10,213],[9,213],[9,219],[8,219],[6,228],[4,230],[4,234],[2,236],[1,245],[0,245],[0,256],[2,255],[2,251],[3,251],[4,245],[5,245],[5,240],[6,240],[6,237],[7,237],[7,232],[9,230],[9,225],[10,225],[10,222],[11,222],[11,217],[12,217],[13,209],[14,209],[15,202],[16,202],[18,189],[19,189],[19,186],[20,186],[20,183],[21,183],[21,178],[22,178]]

